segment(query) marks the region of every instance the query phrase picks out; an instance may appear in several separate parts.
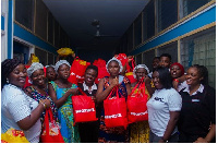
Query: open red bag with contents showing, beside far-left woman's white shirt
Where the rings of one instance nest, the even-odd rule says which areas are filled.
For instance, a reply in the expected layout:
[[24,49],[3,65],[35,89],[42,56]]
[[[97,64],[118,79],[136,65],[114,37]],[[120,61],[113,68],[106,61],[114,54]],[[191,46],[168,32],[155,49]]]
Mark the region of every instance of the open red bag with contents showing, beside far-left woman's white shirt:
[[[50,119],[50,121],[49,121]],[[53,120],[51,108],[46,109],[43,134],[43,143],[64,143],[59,124]]]

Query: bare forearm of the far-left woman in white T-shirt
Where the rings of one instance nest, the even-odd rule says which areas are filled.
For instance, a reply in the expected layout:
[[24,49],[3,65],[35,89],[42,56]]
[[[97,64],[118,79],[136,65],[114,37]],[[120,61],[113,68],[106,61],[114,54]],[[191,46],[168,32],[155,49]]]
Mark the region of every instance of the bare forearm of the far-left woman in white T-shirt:
[[[46,105],[46,107],[44,107],[43,103]],[[39,103],[39,105],[31,112],[29,116],[27,116],[26,118],[17,121],[16,123],[19,124],[19,127],[26,131],[28,129],[31,129],[36,121],[40,118],[43,111],[46,108],[50,107],[50,100],[49,99],[44,99],[41,100],[41,103]]]

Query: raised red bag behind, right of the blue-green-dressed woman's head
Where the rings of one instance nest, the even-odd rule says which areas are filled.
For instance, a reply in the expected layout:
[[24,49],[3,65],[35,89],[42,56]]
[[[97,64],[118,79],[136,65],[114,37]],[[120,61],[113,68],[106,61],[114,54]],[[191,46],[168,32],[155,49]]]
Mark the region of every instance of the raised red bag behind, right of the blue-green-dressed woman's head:
[[68,79],[69,82],[73,84],[83,83],[84,82],[84,74],[86,68],[90,64],[90,62],[86,62],[81,60],[78,57],[73,61],[70,71],[70,77]]

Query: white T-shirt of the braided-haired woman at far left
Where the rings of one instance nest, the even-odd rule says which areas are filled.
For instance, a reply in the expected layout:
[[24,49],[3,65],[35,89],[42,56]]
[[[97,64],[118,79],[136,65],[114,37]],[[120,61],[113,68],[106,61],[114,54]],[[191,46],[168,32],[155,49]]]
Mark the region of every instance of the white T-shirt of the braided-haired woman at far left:
[[[28,117],[38,106],[38,103],[27,96],[21,88],[8,84],[1,92],[1,133],[10,128],[21,130],[17,121]],[[32,143],[39,142],[41,131],[40,119],[27,131],[24,131],[26,139]]]

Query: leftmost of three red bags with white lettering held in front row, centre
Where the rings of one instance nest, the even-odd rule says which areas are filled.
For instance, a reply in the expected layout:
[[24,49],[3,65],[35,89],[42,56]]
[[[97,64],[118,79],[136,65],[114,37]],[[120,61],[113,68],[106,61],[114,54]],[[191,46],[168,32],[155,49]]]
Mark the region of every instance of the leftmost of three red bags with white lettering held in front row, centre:
[[77,122],[96,121],[96,108],[92,97],[87,96],[81,88],[82,95],[72,96],[74,124]]

